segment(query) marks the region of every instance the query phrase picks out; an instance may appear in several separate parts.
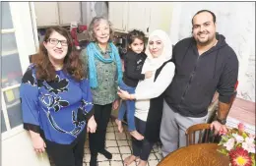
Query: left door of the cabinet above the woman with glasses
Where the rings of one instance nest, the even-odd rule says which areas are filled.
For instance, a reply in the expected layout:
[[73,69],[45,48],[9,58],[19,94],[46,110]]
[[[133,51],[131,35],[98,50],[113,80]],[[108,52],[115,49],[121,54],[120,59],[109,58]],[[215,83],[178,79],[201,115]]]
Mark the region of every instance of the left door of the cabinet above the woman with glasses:
[[33,2],[33,4],[37,27],[59,25],[57,2]]

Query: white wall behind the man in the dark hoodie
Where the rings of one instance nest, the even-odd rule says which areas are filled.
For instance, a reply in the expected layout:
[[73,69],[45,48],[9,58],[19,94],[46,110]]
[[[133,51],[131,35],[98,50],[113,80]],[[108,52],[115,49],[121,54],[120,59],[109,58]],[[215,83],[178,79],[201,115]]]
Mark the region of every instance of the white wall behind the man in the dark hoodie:
[[216,14],[217,31],[224,34],[239,60],[237,96],[255,102],[255,3],[176,2],[170,28],[173,43],[191,36],[191,19],[203,9]]

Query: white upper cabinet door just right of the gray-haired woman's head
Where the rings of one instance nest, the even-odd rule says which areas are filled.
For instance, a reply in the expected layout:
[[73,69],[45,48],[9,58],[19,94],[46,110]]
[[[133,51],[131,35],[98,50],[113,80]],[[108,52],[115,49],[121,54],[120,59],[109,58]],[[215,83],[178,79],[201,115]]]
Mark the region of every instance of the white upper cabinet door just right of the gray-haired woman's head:
[[108,2],[109,21],[115,30],[126,31],[127,2]]

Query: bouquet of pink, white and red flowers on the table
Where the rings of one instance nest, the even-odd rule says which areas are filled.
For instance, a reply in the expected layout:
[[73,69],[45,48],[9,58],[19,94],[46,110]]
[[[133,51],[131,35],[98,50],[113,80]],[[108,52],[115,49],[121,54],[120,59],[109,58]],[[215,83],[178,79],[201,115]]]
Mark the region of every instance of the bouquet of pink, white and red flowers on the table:
[[222,140],[218,151],[229,156],[231,166],[255,166],[255,136],[244,129],[245,126],[240,123],[237,129],[220,132]]

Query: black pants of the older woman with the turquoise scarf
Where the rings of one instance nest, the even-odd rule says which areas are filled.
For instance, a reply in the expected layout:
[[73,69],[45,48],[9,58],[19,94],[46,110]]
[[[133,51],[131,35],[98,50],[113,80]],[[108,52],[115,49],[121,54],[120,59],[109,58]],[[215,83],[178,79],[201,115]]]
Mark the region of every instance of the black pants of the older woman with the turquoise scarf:
[[112,103],[106,105],[94,105],[96,119],[96,133],[89,133],[89,146],[92,155],[105,147],[106,127],[111,115]]

